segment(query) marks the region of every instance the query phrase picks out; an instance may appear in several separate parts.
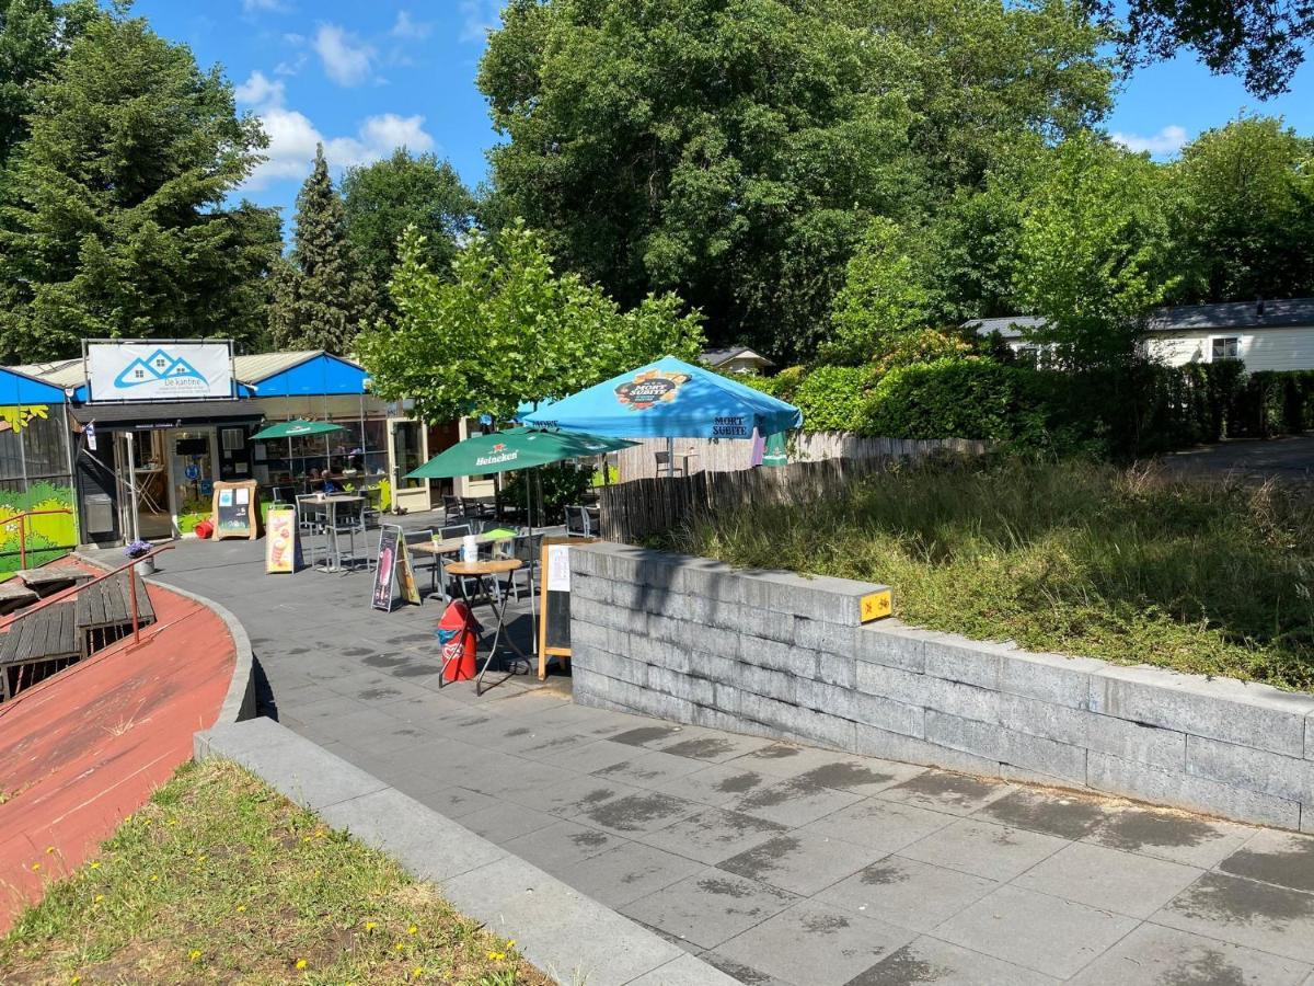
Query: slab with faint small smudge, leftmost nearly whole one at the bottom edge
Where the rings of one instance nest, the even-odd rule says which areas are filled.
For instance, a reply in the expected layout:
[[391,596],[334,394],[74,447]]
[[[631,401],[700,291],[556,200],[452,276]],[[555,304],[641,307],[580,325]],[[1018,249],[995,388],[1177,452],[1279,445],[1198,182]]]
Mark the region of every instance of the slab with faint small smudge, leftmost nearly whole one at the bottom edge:
[[844,986],[915,936],[894,924],[802,901],[715,952],[784,982]]

